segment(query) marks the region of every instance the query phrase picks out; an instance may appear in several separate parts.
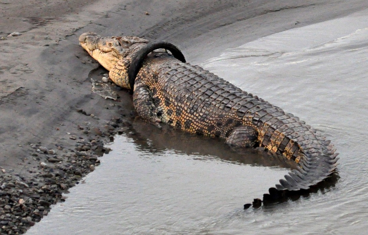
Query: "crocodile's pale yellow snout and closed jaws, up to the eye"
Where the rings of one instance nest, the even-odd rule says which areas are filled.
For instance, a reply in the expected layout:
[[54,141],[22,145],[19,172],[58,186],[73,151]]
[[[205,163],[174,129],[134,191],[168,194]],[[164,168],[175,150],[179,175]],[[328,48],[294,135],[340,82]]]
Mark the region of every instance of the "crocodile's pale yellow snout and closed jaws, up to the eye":
[[94,32],[79,36],[79,44],[105,69],[111,70],[124,53],[116,37],[103,38]]

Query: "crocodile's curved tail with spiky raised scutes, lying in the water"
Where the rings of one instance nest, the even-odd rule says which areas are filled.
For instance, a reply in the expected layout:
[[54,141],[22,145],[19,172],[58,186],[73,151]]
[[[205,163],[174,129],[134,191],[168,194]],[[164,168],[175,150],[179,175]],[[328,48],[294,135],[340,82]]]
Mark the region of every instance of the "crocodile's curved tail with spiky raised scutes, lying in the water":
[[[296,161],[298,167],[270,188],[269,194],[263,195],[263,203],[282,200],[287,192],[309,189],[318,184],[332,175],[339,159],[330,141],[298,117],[275,106],[267,113],[266,116],[271,117],[267,118],[268,121],[256,119],[261,147]],[[257,201],[254,203],[259,204]]]

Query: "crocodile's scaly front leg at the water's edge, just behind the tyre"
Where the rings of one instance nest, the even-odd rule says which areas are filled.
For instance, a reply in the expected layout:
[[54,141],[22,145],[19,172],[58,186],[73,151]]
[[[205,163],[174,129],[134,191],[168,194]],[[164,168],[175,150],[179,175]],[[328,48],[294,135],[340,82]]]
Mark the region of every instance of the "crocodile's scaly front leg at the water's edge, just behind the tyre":
[[153,103],[152,93],[144,83],[137,81],[134,85],[133,103],[142,120],[161,128],[159,111]]

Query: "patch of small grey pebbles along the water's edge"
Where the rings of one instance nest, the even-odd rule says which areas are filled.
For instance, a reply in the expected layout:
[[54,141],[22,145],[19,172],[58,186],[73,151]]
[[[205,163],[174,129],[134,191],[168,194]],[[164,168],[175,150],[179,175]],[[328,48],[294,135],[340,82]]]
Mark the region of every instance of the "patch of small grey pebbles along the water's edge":
[[102,129],[96,126],[78,126],[81,136],[74,149],[55,145],[48,149],[38,143],[30,144],[30,157],[40,161],[30,171],[35,177],[24,178],[1,169],[0,173],[0,234],[23,234],[47,215],[51,205],[65,201],[64,192],[80,182],[83,176],[100,164],[99,157],[110,151],[104,144],[123,133],[131,124],[114,118]]

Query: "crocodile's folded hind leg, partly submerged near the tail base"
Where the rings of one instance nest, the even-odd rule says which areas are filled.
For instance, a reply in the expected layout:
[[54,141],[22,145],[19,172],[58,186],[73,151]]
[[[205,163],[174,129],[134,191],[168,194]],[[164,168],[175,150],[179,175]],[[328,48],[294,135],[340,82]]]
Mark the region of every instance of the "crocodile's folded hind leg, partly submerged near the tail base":
[[257,140],[257,131],[252,126],[239,126],[234,128],[225,143],[236,147],[254,147]]

